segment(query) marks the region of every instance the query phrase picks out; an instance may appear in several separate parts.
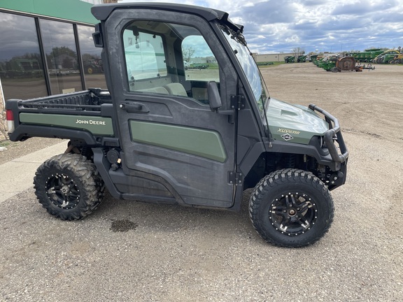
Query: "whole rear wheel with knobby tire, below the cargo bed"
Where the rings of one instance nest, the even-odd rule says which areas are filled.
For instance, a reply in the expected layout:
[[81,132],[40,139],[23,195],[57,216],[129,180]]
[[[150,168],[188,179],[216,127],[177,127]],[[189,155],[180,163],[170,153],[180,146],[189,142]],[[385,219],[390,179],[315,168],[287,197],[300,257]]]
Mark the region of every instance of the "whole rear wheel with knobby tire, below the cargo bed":
[[104,198],[104,181],[95,165],[80,154],[60,154],[36,170],[35,195],[50,215],[78,220],[90,215]]

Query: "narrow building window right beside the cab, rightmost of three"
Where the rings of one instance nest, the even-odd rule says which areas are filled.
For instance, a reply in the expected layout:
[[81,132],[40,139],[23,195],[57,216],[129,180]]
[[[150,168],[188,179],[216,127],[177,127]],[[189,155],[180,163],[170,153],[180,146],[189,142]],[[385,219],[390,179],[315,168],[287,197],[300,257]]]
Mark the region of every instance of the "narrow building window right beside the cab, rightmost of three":
[[78,41],[80,43],[81,59],[83,61],[85,85],[106,89],[104,66],[101,60],[101,48],[94,46],[92,33],[94,27],[78,25]]

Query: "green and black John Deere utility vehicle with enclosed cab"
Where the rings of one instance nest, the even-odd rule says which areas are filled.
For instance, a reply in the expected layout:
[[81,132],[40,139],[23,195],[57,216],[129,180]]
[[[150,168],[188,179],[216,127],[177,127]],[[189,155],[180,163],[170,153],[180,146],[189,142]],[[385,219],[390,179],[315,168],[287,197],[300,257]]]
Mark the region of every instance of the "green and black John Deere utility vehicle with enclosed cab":
[[[240,210],[274,245],[310,245],[334,217],[348,151],[338,120],[270,98],[220,10],[171,3],[93,6],[108,91],[6,102],[12,141],[68,138],[36,171],[39,203],[76,220],[116,199]],[[185,70],[188,45],[217,69]]]

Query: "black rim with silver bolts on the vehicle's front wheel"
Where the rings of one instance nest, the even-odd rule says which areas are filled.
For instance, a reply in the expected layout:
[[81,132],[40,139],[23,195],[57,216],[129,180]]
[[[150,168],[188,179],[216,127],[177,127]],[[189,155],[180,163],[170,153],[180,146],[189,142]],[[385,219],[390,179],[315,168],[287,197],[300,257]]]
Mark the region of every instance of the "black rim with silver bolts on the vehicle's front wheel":
[[289,192],[271,203],[269,219],[276,231],[288,236],[298,236],[309,231],[318,218],[315,201],[307,194]]

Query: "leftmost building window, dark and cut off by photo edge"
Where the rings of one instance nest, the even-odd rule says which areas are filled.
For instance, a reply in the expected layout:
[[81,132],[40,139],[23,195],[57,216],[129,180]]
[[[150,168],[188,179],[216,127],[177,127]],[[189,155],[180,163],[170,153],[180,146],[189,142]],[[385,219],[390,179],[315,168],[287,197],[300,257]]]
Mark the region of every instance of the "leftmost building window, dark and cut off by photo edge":
[[35,21],[0,13],[0,78],[6,99],[46,96]]

